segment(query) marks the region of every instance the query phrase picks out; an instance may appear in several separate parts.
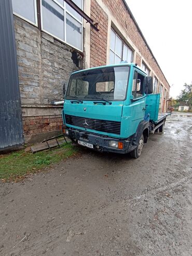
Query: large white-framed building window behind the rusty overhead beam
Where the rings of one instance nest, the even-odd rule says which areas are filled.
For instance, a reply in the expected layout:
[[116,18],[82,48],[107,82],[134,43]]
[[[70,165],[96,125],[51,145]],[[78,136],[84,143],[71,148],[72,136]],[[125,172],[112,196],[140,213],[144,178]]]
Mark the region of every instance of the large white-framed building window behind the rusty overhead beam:
[[[83,8],[82,0],[73,1]],[[42,30],[82,51],[83,21],[63,0],[42,0]]]

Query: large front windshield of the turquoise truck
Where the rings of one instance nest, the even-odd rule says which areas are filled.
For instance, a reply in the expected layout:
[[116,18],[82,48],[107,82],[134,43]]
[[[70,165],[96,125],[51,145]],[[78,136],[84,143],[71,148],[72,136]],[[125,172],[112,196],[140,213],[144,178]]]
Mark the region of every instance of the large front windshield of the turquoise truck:
[[128,76],[129,66],[111,66],[72,74],[66,99],[125,100]]

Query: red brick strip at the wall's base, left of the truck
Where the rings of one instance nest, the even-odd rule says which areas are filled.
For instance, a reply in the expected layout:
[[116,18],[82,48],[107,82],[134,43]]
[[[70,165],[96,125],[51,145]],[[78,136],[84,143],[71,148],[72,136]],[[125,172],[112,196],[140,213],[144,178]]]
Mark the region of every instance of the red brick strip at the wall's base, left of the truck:
[[23,130],[25,136],[40,132],[57,131],[61,129],[61,115],[23,117]]

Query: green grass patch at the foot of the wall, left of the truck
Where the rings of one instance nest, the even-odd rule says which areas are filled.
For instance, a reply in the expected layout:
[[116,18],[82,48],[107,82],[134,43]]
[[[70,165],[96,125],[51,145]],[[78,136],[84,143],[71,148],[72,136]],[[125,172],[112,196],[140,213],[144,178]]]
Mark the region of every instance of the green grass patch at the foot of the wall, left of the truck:
[[35,154],[21,150],[0,155],[0,180],[4,182],[21,180],[29,173],[37,172],[77,153],[78,149],[73,145],[64,144],[60,149]]

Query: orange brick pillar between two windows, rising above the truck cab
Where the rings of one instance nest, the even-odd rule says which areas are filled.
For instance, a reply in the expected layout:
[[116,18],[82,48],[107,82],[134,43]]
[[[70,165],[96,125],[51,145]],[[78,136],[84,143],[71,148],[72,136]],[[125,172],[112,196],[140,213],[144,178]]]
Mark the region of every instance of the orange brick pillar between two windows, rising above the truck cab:
[[99,22],[99,32],[91,28],[90,67],[106,64],[108,17],[95,0],[91,0],[91,18]]

